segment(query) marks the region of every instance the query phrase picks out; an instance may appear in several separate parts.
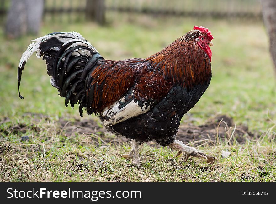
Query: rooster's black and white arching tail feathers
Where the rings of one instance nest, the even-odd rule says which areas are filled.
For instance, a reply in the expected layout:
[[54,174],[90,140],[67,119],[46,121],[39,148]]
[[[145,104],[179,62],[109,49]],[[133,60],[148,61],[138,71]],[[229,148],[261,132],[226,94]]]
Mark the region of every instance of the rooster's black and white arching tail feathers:
[[80,115],[86,104],[86,87],[90,81],[88,74],[99,60],[100,56],[81,34],[77,32],[55,32],[32,40],[27,50],[22,54],[18,66],[18,94],[20,95],[21,75],[29,57],[36,52],[38,58],[43,56],[47,64],[47,73],[51,78],[51,85],[56,87],[61,97],[65,97],[65,106],[69,102],[71,107],[79,103]]

